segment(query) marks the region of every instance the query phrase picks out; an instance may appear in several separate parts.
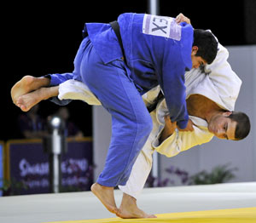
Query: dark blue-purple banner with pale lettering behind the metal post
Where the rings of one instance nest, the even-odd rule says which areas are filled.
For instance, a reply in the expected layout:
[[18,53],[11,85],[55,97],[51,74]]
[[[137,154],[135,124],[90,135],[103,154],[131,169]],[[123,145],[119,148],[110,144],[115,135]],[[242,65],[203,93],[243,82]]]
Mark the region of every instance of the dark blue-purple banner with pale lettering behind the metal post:
[[[48,193],[48,159],[41,142],[10,142],[10,195]],[[61,174],[61,192],[90,190],[93,181],[91,140],[67,142],[67,153],[61,160]]]

